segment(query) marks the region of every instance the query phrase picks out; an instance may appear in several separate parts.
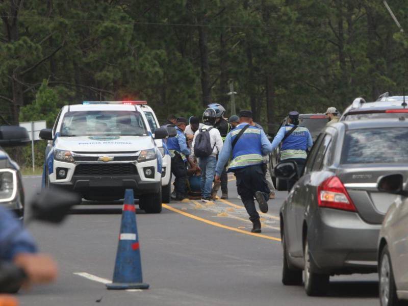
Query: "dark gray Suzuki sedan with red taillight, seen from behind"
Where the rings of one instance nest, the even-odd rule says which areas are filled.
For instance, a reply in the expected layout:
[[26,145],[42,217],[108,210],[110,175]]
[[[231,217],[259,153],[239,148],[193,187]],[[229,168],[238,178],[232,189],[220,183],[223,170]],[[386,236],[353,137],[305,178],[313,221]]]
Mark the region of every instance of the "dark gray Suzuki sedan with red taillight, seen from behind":
[[[406,180],[406,152],[403,118],[324,129],[281,208],[285,285],[300,285],[303,274],[307,294],[322,295],[330,275],[376,271],[379,229],[395,199],[379,192],[377,181],[396,171]],[[292,162],[274,171],[281,179],[299,176]]]

